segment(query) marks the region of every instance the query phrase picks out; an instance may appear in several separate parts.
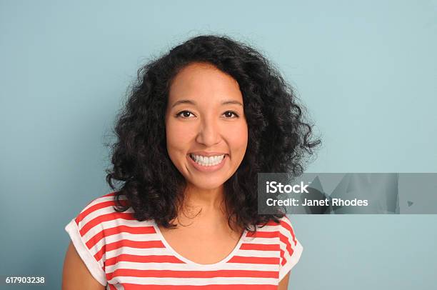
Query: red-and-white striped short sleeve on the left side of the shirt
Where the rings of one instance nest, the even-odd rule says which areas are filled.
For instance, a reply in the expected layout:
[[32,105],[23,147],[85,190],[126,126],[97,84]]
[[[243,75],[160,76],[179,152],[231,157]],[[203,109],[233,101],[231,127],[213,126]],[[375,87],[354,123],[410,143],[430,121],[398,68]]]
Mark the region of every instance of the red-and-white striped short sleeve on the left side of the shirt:
[[104,271],[104,229],[99,221],[99,216],[93,209],[94,201],[86,206],[76,218],[71,219],[65,226],[76,251],[91,275],[106,286]]

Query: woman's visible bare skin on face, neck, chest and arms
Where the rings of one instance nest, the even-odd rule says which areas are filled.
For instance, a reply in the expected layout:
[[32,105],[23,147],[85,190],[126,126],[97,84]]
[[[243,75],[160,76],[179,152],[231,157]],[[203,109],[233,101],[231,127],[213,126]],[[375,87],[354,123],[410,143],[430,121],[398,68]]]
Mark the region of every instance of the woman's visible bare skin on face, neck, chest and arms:
[[[189,64],[171,82],[165,121],[167,152],[187,186],[184,204],[173,221],[176,229],[160,227],[161,234],[184,258],[197,264],[215,264],[233,251],[243,232],[228,226],[223,206],[223,183],[241,164],[248,141],[238,82],[211,64]],[[227,156],[221,169],[204,172],[187,158],[194,151]],[[288,276],[278,289],[287,289]],[[104,289],[72,244],[64,262],[62,289]]]

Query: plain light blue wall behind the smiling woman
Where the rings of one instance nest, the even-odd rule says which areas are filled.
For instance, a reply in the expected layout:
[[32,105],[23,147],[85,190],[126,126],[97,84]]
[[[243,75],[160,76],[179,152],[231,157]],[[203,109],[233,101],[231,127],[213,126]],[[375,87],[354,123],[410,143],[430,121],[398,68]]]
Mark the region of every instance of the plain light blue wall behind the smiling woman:
[[[308,171],[437,171],[436,1],[168,2],[0,1],[0,275],[60,288],[136,70],[197,34],[247,41],[296,88],[323,139]],[[436,215],[291,219],[290,289],[437,284]]]

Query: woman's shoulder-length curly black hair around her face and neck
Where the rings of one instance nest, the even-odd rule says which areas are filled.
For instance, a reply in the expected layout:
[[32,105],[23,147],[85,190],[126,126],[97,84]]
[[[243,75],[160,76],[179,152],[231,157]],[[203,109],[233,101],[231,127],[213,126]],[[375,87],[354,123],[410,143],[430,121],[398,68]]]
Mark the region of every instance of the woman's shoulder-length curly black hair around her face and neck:
[[[313,139],[291,86],[258,51],[228,36],[196,36],[149,61],[138,71],[126,106],[116,120],[117,141],[111,146],[106,181],[116,189],[116,211],[131,206],[139,221],[154,219],[176,226],[184,201],[184,176],[166,149],[165,112],[169,87],[176,74],[192,63],[209,63],[238,82],[248,124],[246,154],[224,187],[228,224],[249,231],[283,216],[257,213],[257,174],[303,172],[304,157],[321,143]],[[118,186],[114,185],[116,181]],[[121,204],[120,196],[126,196]],[[231,222],[231,220],[233,222]],[[231,225],[233,224],[233,225]]]

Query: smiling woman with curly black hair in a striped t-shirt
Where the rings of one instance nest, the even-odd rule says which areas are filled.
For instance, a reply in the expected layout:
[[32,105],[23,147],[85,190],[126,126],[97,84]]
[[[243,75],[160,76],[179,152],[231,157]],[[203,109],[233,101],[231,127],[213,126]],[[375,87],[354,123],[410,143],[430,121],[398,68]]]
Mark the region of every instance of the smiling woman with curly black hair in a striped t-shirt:
[[[197,36],[139,71],[106,180],[66,226],[64,289],[286,289],[302,246],[257,214],[258,172],[300,174],[319,141],[257,51]],[[119,186],[114,186],[114,182]]]

